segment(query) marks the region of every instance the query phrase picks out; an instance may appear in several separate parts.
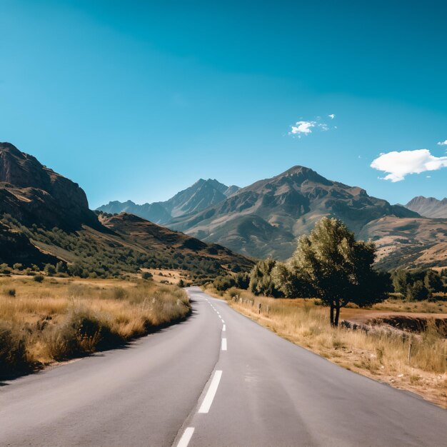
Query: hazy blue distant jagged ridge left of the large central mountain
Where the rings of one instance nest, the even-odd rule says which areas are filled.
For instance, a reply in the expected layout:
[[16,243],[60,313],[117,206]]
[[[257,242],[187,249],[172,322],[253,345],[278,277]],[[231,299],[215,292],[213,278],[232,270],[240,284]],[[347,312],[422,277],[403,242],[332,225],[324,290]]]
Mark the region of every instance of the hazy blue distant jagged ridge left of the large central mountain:
[[137,205],[130,200],[126,202],[111,201],[97,210],[109,214],[132,213],[155,224],[166,224],[172,218],[198,213],[209,206],[219,204],[235,194],[238,189],[238,186],[226,186],[215,179],[199,179],[194,185],[164,202]]

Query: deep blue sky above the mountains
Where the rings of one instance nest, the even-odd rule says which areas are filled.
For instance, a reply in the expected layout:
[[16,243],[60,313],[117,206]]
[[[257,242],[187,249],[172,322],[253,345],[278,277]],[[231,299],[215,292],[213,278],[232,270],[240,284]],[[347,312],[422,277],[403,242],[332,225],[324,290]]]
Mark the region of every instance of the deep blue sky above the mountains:
[[2,0],[0,141],[91,207],[296,164],[392,203],[441,199],[446,16],[445,1]]

